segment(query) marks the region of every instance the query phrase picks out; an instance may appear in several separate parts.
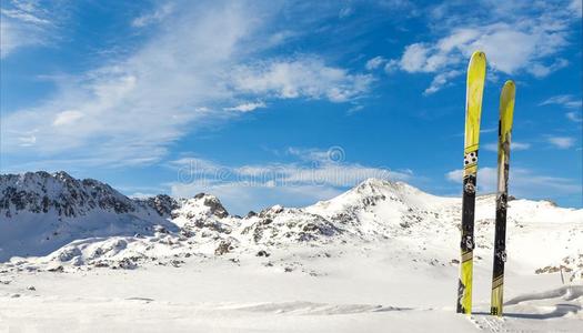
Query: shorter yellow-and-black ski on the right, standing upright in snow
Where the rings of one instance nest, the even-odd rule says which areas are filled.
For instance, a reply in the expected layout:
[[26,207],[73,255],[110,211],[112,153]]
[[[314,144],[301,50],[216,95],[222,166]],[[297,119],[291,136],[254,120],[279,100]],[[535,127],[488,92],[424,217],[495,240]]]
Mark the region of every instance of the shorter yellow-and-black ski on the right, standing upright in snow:
[[509,80],[500,94],[500,121],[497,125],[497,192],[496,231],[494,236],[494,271],[492,273],[492,303],[490,313],[502,315],[504,263],[506,262],[506,203],[510,170],[510,142],[514,114],[515,84]]

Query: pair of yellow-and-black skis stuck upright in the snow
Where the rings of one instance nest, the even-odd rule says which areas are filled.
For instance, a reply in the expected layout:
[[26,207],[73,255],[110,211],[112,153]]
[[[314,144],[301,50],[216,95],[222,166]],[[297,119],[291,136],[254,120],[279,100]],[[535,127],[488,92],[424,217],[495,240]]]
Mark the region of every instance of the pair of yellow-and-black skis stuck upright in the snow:
[[[458,287],[458,312],[472,313],[472,275],[474,250],[474,209],[478,175],[478,150],[480,141],[480,117],[486,72],[484,52],[475,51],[468,67],[465,101],[465,140],[462,196],[462,241],[460,281]],[[490,312],[502,315],[504,262],[506,261],[506,202],[510,141],[514,112],[515,84],[504,83],[500,95],[500,121],[497,133],[497,193],[494,240],[494,270],[492,274],[492,299]]]

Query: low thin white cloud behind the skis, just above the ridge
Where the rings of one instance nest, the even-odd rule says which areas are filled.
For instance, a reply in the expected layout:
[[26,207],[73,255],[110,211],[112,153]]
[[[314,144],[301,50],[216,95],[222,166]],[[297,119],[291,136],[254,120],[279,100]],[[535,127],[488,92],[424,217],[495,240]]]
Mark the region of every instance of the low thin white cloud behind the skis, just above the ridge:
[[[453,170],[445,174],[449,181],[462,183],[462,170]],[[496,191],[496,168],[479,168],[478,189],[481,194]],[[461,189],[460,189],[461,190]],[[573,179],[539,174],[524,168],[510,168],[509,194],[517,198],[545,199],[562,194],[581,193],[581,184]]]

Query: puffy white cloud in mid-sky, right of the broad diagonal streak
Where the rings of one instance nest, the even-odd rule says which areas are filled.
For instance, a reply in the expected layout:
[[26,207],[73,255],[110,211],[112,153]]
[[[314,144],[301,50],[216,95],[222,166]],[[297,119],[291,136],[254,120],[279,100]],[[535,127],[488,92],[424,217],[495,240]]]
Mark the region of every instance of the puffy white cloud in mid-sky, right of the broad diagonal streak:
[[234,89],[281,99],[309,98],[345,102],[368,92],[373,79],[329,67],[318,57],[273,60],[234,70]]

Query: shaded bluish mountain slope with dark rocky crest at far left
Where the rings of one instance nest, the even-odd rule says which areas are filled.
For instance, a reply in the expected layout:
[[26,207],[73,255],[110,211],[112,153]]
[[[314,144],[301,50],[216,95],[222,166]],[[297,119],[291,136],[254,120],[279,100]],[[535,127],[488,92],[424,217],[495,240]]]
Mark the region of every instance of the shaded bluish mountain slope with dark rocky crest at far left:
[[0,261],[48,254],[79,239],[152,234],[169,223],[172,199],[137,201],[66,172],[0,175]]

